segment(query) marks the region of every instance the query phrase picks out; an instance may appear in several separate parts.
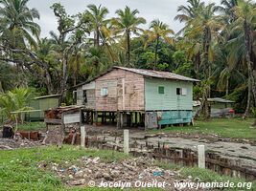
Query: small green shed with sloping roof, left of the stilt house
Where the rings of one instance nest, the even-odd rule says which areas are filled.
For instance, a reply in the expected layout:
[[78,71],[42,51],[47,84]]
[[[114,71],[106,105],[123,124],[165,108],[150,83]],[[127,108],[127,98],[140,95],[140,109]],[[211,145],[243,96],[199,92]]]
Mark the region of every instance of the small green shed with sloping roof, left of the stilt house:
[[49,96],[37,96],[31,101],[30,107],[34,110],[40,110],[40,112],[33,112],[26,114],[27,121],[38,121],[44,119],[44,111],[49,108],[58,107],[59,95],[49,95]]

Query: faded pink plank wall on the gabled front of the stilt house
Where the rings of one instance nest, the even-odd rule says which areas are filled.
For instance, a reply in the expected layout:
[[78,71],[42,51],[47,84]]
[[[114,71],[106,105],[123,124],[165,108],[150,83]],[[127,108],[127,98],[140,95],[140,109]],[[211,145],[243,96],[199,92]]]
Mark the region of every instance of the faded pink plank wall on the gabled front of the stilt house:
[[[107,88],[107,96],[101,96],[102,88]],[[96,79],[97,111],[141,111],[144,109],[143,75],[115,69]]]

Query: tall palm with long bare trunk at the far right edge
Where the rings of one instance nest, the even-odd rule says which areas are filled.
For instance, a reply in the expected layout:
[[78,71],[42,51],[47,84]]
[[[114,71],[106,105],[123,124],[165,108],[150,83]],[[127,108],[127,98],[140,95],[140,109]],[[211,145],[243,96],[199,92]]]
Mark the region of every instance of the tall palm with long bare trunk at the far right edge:
[[[253,32],[256,24],[256,9],[252,1],[250,0],[238,0],[238,5],[234,8],[234,14],[237,19],[233,22],[233,32],[240,32],[237,36],[237,40],[244,39],[242,44],[244,47],[244,57],[247,66],[248,74],[248,96],[247,106],[244,113],[244,118],[248,115],[251,103],[251,93],[254,96],[254,104],[256,105],[256,82],[253,70],[253,62],[251,60],[252,46],[253,46]],[[241,48],[241,46],[239,46]],[[238,47],[234,47],[237,50]]]

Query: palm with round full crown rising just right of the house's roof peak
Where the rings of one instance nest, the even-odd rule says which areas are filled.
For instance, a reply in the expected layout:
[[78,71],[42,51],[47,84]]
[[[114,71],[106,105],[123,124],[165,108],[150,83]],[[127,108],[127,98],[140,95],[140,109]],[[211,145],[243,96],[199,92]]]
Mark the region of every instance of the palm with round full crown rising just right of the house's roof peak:
[[115,27],[116,34],[122,34],[126,37],[127,43],[127,64],[130,64],[130,36],[132,33],[138,35],[139,32],[143,32],[141,28],[138,26],[141,24],[145,24],[146,20],[142,17],[137,17],[138,10],[130,10],[128,6],[125,10],[118,10],[116,14],[117,18],[112,19],[112,23]]

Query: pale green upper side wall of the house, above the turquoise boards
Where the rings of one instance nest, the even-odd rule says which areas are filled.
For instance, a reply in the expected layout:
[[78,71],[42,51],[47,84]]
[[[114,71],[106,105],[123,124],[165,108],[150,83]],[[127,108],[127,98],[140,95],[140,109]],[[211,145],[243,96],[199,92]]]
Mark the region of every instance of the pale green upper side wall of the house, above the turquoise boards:
[[[165,87],[164,94],[158,93],[159,87]],[[186,96],[177,96],[176,88],[186,88]],[[145,78],[146,111],[192,110],[193,83],[186,81]]]

